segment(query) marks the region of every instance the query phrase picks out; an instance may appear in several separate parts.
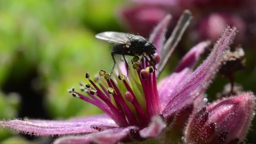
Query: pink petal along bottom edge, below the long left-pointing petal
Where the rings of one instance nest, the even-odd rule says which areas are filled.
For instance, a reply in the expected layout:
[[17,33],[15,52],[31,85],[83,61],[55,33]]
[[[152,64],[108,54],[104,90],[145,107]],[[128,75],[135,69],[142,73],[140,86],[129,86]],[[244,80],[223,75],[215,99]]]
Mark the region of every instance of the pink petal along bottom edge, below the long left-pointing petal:
[[85,144],[94,142],[97,144],[113,144],[122,141],[126,136],[130,135],[131,129],[136,128],[130,126],[127,128],[112,128],[106,131],[91,133],[83,136],[66,136],[56,139],[54,144]]

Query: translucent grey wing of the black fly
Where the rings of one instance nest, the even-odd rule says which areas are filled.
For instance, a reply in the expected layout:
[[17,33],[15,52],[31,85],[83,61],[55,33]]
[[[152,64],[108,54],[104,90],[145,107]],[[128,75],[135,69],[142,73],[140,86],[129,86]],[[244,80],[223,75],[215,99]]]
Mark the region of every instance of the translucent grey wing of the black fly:
[[131,45],[129,37],[131,34],[123,32],[101,32],[95,35],[96,38],[100,40],[105,40],[109,43],[122,43],[125,45]]

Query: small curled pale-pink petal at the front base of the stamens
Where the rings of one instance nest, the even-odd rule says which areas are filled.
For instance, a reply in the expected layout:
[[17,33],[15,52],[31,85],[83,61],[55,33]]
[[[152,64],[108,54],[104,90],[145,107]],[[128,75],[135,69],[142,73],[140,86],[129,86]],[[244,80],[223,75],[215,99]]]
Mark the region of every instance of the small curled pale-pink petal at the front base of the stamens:
[[140,131],[140,135],[142,138],[156,137],[162,133],[165,127],[166,123],[160,116],[157,115],[152,117],[152,122],[149,124],[149,127]]

